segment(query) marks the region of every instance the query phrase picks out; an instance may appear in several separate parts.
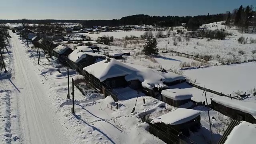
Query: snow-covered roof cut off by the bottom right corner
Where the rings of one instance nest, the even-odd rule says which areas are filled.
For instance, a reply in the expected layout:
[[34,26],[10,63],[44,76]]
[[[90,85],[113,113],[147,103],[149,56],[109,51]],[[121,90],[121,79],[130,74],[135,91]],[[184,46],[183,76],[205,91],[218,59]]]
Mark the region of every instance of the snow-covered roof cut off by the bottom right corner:
[[256,124],[242,121],[235,126],[224,144],[255,144]]

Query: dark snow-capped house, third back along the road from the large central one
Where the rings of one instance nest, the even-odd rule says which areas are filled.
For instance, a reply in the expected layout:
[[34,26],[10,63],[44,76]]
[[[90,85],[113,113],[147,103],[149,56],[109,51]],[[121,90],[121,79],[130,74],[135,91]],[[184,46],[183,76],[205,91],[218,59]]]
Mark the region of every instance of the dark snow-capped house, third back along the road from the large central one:
[[73,50],[71,48],[65,46],[65,44],[62,44],[52,50],[52,56],[58,58],[62,64],[66,64],[68,55],[72,52]]

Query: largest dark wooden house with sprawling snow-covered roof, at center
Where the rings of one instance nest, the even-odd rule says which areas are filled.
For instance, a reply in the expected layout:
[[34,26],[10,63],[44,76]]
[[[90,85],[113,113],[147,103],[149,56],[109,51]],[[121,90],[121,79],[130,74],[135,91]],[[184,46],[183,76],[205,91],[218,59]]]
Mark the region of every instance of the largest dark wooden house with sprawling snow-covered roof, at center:
[[136,64],[124,64],[115,59],[97,62],[85,67],[82,75],[88,80],[97,81],[97,88],[102,86],[109,89],[129,86],[132,89],[142,89],[148,96],[156,97],[159,87],[168,88],[163,81],[171,81],[172,75],[146,68]]

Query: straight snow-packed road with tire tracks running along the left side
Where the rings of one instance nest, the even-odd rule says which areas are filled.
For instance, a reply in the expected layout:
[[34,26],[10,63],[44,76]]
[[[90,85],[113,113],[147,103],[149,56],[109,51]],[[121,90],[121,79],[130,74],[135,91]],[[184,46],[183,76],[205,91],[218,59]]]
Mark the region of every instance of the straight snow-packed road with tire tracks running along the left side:
[[24,144],[65,144],[54,110],[46,96],[47,89],[40,82],[39,75],[25,54],[18,36],[10,32],[14,52],[14,85],[18,98],[19,127],[21,142]]

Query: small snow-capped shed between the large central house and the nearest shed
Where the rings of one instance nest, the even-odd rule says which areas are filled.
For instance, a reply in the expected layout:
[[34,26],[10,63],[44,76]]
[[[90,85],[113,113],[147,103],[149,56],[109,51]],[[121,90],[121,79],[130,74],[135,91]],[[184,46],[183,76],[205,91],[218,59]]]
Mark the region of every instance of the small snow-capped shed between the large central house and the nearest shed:
[[171,106],[179,107],[191,101],[192,94],[184,92],[181,89],[167,89],[162,90],[162,101],[170,104]]

